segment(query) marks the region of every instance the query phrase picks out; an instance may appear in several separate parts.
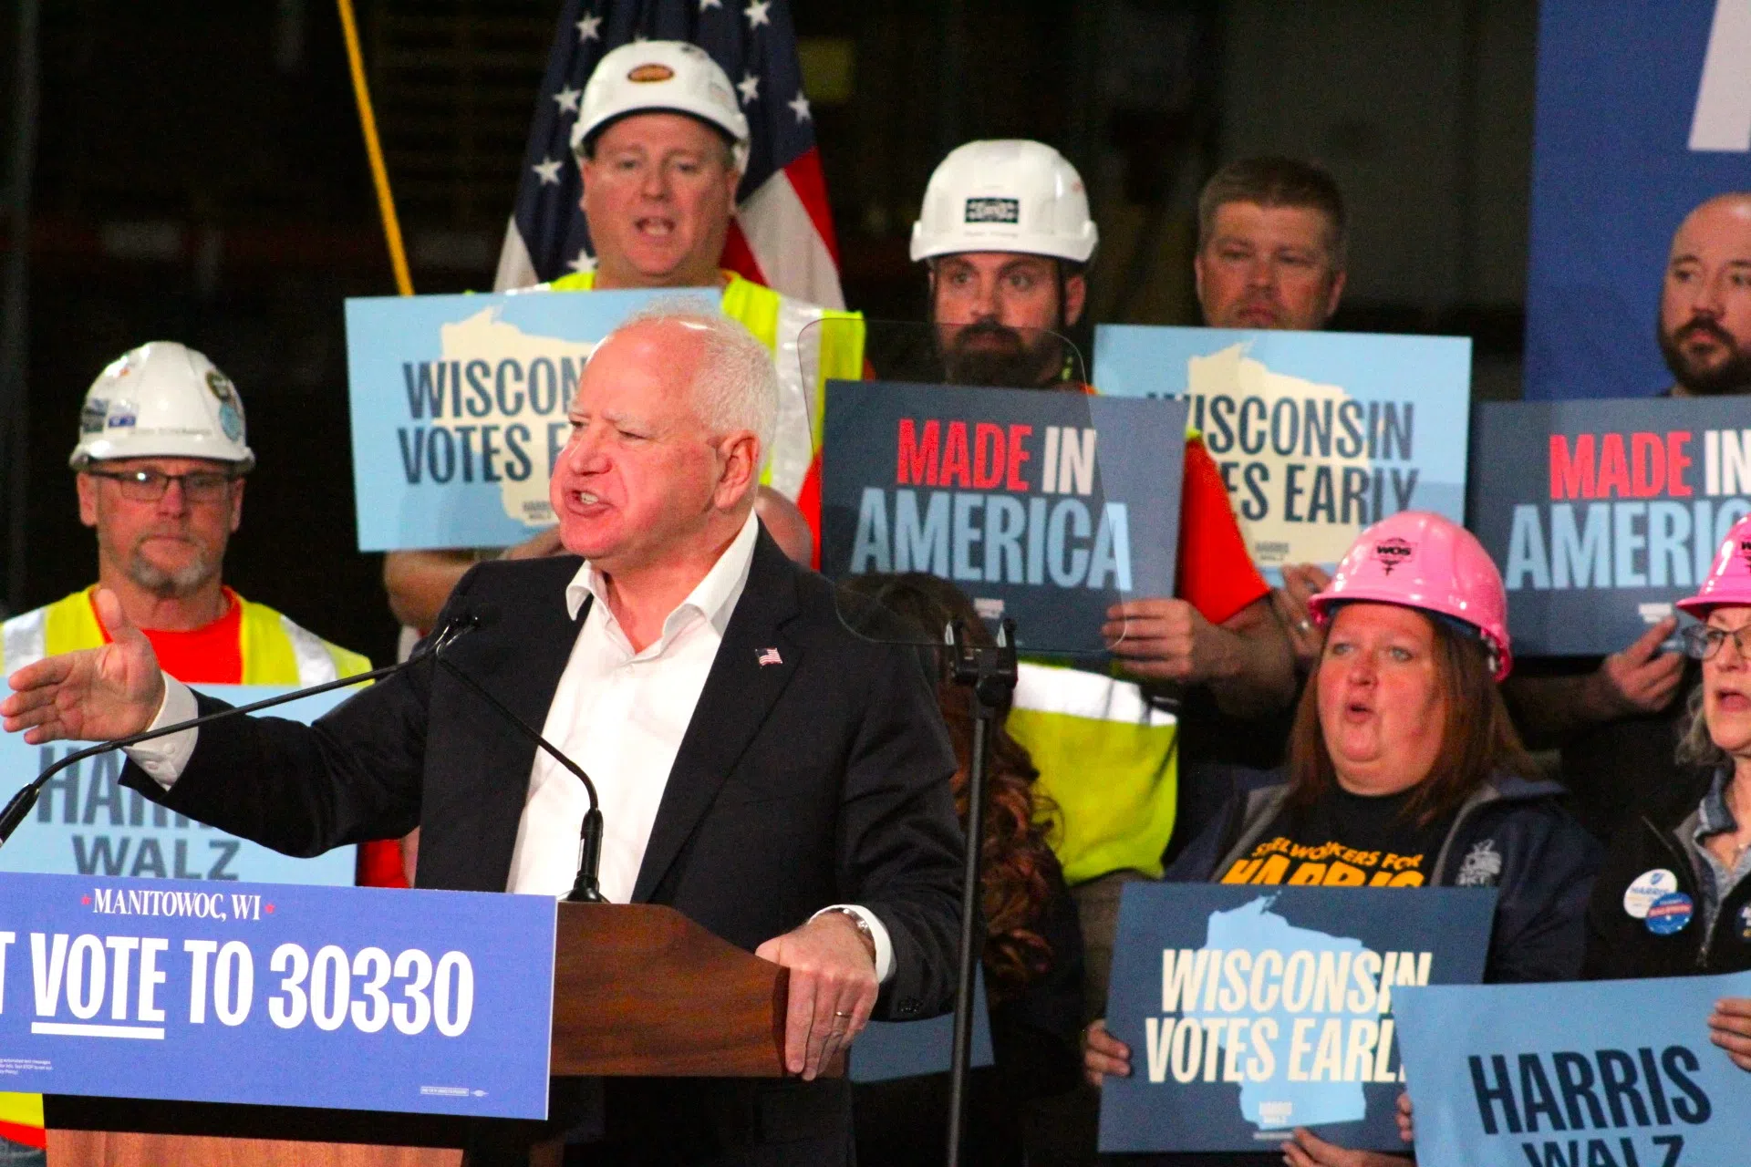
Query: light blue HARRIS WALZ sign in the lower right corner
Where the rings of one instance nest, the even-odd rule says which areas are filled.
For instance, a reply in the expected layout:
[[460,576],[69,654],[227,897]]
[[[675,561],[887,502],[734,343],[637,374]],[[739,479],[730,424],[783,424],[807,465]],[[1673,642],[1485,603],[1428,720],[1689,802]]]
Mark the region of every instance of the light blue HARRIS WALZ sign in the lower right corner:
[[1406,989],[1420,1167],[1742,1164],[1751,1074],[1709,1043],[1751,973]]

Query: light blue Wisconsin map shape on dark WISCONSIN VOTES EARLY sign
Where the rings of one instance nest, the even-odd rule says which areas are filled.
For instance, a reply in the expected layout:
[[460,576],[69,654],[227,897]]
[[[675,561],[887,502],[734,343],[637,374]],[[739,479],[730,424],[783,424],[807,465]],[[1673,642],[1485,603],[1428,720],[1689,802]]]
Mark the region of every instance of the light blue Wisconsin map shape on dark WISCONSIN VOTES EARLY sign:
[[[1290,954],[1296,950],[1306,950],[1319,959],[1320,952],[1331,952],[1341,955],[1350,954],[1354,961],[1364,948],[1361,940],[1352,936],[1327,936],[1326,933],[1317,933],[1310,927],[1296,927],[1283,917],[1269,910],[1276,901],[1276,896],[1259,896],[1252,903],[1247,903],[1231,912],[1212,912],[1208,929],[1205,931],[1205,947],[1219,948],[1222,952],[1231,952],[1234,948],[1247,948],[1248,952],[1262,952],[1264,948],[1275,948],[1282,954]],[[1185,1017],[1229,1017],[1220,1011],[1192,1011],[1187,1010]],[[1326,1017],[1320,1013],[1290,1013],[1282,1008],[1282,994],[1278,994],[1278,1008],[1269,1013],[1259,1013],[1257,1017],[1269,1017],[1276,1022],[1276,1041],[1273,1048],[1276,1052],[1276,1073],[1271,1074],[1269,1081],[1245,1081],[1240,1087],[1240,1113],[1241,1116],[1257,1127],[1259,1130],[1283,1130],[1289,1127],[1319,1127],[1326,1123],[1352,1123],[1368,1118],[1368,1092],[1359,1081],[1289,1081],[1289,1041],[1294,1034],[1294,1022],[1297,1017],[1313,1017],[1319,1024],[1313,1027],[1310,1038],[1319,1041],[1319,1027],[1324,1024]],[[1224,1031],[1226,1032],[1226,1031]],[[1311,1069],[1310,1060],[1303,1062],[1303,1067]],[[1261,1104],[1287,1106],[1287,1122],[1266,1123],[1262,1118]]]

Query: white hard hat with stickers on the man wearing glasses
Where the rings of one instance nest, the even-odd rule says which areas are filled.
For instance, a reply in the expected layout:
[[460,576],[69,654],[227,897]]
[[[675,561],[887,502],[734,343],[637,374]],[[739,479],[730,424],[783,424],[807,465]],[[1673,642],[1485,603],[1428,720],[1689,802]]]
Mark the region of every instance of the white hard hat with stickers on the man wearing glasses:
[[86,390],[75,471],[105,458],[212,458],[256,465],[243,444],[243,399],[214,362],[177,341],[140,345]]

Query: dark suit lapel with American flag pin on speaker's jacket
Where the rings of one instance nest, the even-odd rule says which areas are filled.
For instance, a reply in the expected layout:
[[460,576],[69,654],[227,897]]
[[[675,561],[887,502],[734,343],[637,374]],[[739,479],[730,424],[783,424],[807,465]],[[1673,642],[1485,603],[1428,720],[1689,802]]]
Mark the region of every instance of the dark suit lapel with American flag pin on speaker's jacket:
[[[718,656],[669,772],[639,878],[632,887],[634,903],[651,898],[797,672],[802,647],[783,633],[783,625],[797,614],[795,570],[762,528],[748,586],[723,632]],[[777,660],[770,658],[774,649]]]

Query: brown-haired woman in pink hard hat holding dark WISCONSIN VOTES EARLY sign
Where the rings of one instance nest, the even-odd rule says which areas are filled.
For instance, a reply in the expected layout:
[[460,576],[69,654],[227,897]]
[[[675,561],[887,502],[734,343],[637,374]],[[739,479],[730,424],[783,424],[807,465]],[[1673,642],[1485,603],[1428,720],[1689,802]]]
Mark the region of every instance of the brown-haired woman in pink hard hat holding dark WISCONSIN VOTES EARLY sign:
[[[1313,597],[1326,630],[1296,710],[1287,780],[1236,794],[1168,880],[1322,887],[1495,887],[1487,982],[1572,980],[1599,847],[1530,780],[1499,684],[1508,597],[1483,546],[1438,514],[1362,532]],[[1129,1074],[1100,1022],[1084,1069]],[[1408,1115],[1401,1127],[1408,1129]],[[1304,1129],[1271,1155],[1154,1162],[1369,1167]]]

